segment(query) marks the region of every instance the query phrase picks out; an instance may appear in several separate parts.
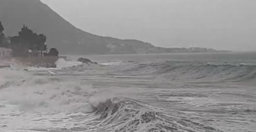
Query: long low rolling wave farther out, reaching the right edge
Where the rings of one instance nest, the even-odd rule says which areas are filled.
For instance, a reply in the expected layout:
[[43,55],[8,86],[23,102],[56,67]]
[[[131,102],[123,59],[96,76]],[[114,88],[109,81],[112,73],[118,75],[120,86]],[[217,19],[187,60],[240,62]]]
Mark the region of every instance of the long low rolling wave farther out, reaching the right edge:
[[116,70],[117,75],[164,76],[168,79],[248,81],[256,79],[254,63],[175,62],[133,63]]

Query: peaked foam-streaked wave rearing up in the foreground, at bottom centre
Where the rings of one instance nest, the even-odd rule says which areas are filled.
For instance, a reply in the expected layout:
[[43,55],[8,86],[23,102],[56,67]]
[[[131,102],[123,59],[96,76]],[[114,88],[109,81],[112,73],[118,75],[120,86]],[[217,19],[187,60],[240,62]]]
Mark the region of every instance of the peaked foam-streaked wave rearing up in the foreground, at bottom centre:
[[80,128],[83,132],[222,132],[130,98],[111,98],[93,107],[94,112],[77,118],[89,118]]

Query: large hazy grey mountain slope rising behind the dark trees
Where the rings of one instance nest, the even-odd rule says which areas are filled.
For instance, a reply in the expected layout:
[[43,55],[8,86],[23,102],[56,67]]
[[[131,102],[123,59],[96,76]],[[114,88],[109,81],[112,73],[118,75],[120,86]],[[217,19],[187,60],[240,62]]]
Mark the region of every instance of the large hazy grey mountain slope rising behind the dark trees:
[[149,43],[90,34],[76,28],[40,0],[0,0],[0,21],[9,36],[26,24],[47,36],[48,48],[62,54],[150,53]]

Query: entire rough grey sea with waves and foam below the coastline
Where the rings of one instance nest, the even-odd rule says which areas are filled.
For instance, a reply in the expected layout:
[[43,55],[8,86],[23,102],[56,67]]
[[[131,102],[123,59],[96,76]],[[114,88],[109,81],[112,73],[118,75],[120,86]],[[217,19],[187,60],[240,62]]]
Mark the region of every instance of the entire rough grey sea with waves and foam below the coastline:
[[256,132],[256,53],[56,64],[0,69],[0,132]]

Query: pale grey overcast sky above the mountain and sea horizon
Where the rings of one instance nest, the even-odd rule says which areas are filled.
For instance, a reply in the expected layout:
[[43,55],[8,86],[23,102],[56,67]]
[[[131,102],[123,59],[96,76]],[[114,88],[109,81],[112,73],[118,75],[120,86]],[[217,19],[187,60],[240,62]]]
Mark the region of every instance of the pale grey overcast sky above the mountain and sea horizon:
[[74,26],[161,47],[256,51],[256,0],[41,0]]

